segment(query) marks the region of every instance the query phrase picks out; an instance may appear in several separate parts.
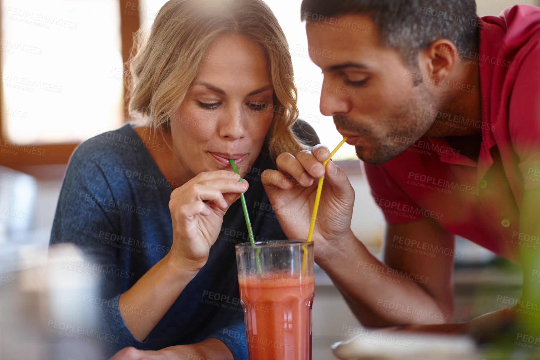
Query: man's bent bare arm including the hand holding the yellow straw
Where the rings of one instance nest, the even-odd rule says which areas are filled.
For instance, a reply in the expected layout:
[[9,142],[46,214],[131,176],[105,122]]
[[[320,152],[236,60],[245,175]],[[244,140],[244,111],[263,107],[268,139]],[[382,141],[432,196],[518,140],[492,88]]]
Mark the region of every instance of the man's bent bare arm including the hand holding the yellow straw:
[[[287,238],[305,238],[317,188],[315,178],[325,175],[313,234],[315,261],[333,279],[360,321],[368,326],[450,321],[452,259],[439,255],[429,258],[393,248],[387,241],[387,257],[393,262],[389,266],[404,268],[392,269],[379,262],[350,230],[354,190],[345,171],[333,162],[326,169],[322,166],[328,156],[328,148],[322,145],[296,156],[280,154],[278,171],[262,173],[266,194]],[[290,221],[290,214],[297,214],[294,221]],[[448,252],[453,250],[452,237],[428,219],[392,225],[388,236],[390,242],[394,236],[413,237],[418,242],[444,246]],[[417,274],[408,274],[411,271]]]

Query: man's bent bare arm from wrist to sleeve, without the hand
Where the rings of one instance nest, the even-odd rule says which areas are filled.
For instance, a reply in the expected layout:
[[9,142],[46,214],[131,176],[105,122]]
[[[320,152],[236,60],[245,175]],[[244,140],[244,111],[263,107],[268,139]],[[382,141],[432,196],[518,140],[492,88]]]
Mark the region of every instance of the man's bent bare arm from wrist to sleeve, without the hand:
[[356,238],[345,241],[318,264],[363,325],[451,322],[454,237],[433,219],[389,224],[384,264]]

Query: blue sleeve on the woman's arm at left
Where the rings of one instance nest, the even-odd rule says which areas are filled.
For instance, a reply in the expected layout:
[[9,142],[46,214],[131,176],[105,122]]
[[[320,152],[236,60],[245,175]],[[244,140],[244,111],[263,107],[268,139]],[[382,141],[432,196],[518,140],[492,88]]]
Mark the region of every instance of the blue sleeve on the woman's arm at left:
[[96,311],[100,332],[109,335],[107,339],[113,339],[102,342],[108,358],[126,346],[139,348],[143,342],[133,337],[118,309],[118,297],[133,273],[120,271],[117,250],[100,243],[103,239],[100,234],[120,233],[120,218],[114,206],[107,204],[115,194],[99,159],[92,158],[86,151],[89,147],[83,143],[70,159],[58,198],[50,245],[73,243],[89,257],[84,269],[78,270],[100,280],[99,294],[105,302],[100,306],[86,305]]

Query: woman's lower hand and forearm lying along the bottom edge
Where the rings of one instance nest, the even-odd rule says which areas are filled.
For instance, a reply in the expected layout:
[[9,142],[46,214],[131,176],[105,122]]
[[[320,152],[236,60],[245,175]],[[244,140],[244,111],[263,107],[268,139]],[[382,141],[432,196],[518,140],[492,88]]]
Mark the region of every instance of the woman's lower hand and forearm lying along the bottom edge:
[[151,351],[137,350],[133,347],[118,351],[109,360],[188,360],[212,359],[234,360],[231,350],[224,342],[216,338],[208,338],[203,342],[192,345],[169,346],[168,348]]

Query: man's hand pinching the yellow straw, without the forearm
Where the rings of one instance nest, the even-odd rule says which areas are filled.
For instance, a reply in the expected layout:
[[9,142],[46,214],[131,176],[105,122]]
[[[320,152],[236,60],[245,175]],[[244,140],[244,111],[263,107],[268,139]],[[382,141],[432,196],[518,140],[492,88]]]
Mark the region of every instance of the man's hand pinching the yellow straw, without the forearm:
[[272,203],[281,228],[289,239],[305,239],[313,212],[318,180],[325,175],[319,203],[317,222],[313,233],[316,241],[315,258],[321,257],[328,246],[350,236],[354,190],[345,171],[333,162],[322,162],[330,156],[324,145],[300,151],[296,157],[283,153],[276,163],[278,171],[265,170],[262,184]]

